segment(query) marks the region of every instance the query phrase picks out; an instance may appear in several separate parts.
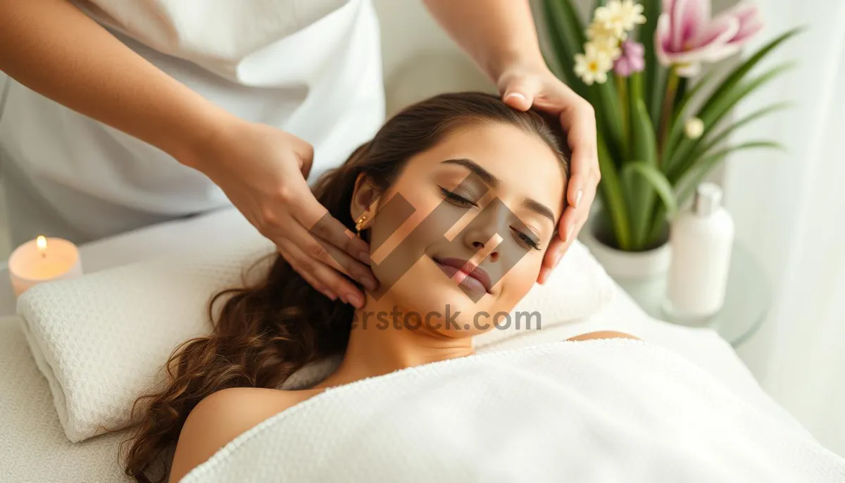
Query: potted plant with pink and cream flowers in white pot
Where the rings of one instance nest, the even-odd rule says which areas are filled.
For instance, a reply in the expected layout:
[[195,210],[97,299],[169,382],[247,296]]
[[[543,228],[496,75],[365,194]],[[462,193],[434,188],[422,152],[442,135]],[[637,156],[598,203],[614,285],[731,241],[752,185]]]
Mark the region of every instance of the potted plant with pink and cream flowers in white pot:
[[668,222],[695,186],[734,151],[779,147],[724,142],[784,103],[730,122],[728,112],[789,67],[751,73],[798,30],[725,75],[699,77],[703,63],[739,52],[761,29],[754,4],[711,18],[711,0],[597,0],[585,25],[573,3],[542,0],[542,9],[549,67],[596,111],[602,182],[584,234],[609,274],[657,274],[668,266]]

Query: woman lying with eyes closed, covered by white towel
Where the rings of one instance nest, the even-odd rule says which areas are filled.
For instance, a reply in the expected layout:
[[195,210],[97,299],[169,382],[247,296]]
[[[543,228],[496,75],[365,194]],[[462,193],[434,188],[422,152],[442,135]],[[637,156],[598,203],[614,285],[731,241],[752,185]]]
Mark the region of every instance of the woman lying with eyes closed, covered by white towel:
[[[632,335],[474,354],[555,236],[569,175],[557,125],[477,93],[390,119],[314,188],[370,243],[379,290],[356,310],[278,257],[258,285],[221,294],[214,333],[177,350],[169,386],[141,399],[128,475],[845,481],[805,433]],[[333,355],[324,380],[280,389]]]

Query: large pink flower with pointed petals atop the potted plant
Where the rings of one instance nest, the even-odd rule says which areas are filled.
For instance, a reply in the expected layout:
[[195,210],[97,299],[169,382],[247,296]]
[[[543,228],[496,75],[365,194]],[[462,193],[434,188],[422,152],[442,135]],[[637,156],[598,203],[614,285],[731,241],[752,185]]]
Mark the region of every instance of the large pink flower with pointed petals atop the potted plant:
[[657,58],[674,65],[679,75],[699,72],[701,62],[718,62],[739,52],[763,24],[749,2],[711,19],[711,0],[663,0],[663,12],[654,34]]

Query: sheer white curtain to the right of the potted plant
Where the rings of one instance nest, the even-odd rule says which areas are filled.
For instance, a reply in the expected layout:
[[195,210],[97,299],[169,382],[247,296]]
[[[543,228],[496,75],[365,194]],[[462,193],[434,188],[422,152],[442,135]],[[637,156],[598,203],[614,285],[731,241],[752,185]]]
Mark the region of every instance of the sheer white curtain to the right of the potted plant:
[[779,403],[845,454],[845,3],[758,3],[767,26],[757,46],[794,26],[808,29],[760,69],[797,61],[793,71],[735,112],[794,103],[733,139],[773,139],[786,152],[748,151],[728,164],[737,236],[758,254],[775,290],[760,339],[744,355]]

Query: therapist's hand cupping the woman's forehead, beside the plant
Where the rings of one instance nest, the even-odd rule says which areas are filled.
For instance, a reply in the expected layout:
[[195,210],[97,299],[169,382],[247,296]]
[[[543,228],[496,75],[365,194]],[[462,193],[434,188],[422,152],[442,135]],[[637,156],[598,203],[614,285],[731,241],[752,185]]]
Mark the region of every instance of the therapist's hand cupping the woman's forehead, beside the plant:
[[596,116],[589,102],[554,77],[545,66],[515,67],[499,76],[499,92],[509,106],[532,106],[560,118],[572,151],[567,206],[560,217],[559,238],[548,247],[537,278],[543,283],[581,231],[596,197],[601,173],[596,147]]

